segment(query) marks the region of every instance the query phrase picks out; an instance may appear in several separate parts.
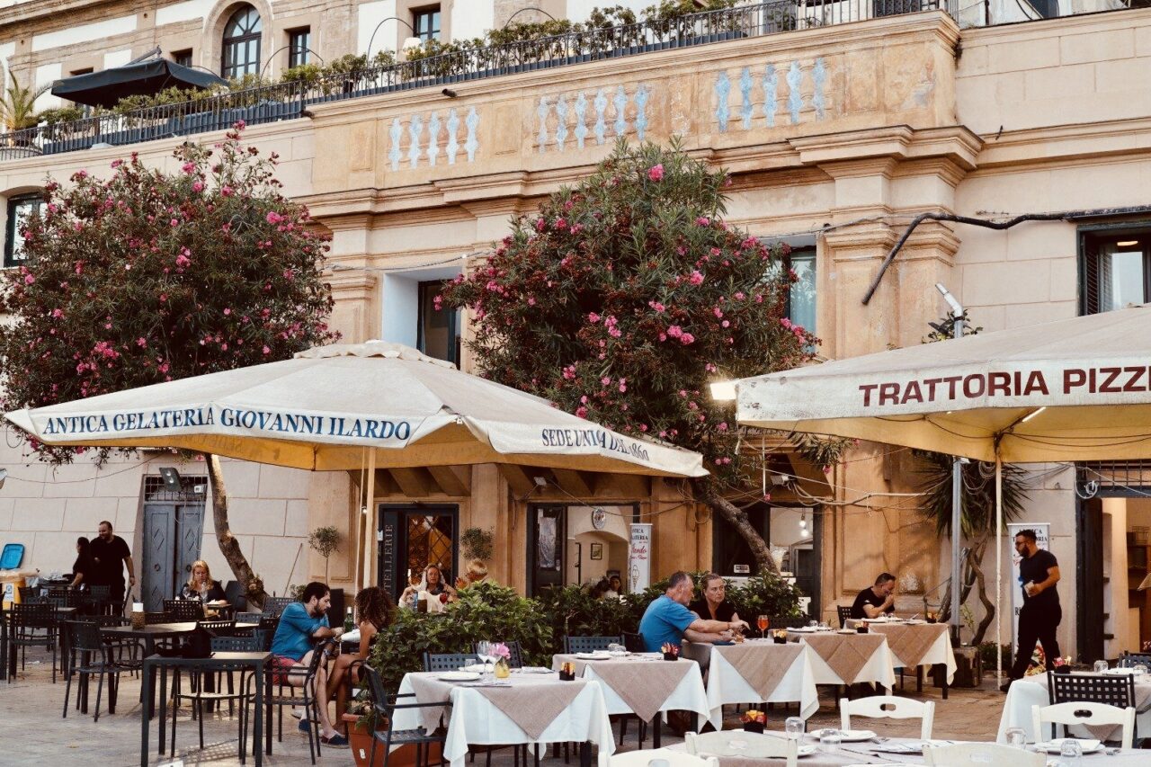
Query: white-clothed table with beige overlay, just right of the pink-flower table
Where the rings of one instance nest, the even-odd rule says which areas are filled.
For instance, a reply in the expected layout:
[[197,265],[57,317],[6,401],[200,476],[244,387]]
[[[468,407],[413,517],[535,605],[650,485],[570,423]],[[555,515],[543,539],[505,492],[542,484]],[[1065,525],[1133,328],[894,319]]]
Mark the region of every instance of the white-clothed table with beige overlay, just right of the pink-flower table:
[[610,716],[634,714],[651,722],[653,743],[660,747],[660,714],[689,711],[710,717],[700,665],[686,658],[666,661],[663,653],[557,653],[551,669],[572,663],[576,676],[599,682]]

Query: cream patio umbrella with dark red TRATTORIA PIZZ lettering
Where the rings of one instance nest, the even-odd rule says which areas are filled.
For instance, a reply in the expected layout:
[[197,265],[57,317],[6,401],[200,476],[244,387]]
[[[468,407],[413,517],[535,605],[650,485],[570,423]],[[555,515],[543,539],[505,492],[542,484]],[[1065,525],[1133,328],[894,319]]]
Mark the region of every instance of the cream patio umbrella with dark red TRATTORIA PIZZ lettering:
[[735,418],[994,461],[998,602],[1003,463],[1151,457],[1149,349],[1144,304],[744,379]]

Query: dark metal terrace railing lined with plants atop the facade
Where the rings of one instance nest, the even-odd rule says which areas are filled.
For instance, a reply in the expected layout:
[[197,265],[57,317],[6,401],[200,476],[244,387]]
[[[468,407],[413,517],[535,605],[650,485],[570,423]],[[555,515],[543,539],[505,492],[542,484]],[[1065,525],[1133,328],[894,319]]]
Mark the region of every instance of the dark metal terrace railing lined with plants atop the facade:
[[954,17],[958,0],[773,0],[663,22],[466,48],[386,67],[366,67],[317,82],[244,89],[0,134],[0,160],[204,134],[223,130],[239,120],[247,124],[292,120],[304,116],[312,104],[443,88],[523,71],[937,9]]

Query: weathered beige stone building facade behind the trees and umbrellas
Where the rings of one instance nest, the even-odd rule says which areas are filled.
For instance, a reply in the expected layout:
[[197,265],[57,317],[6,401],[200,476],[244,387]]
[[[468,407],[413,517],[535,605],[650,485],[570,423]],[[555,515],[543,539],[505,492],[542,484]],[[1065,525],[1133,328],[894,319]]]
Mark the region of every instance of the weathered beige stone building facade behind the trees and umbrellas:
[[[124,63],[155,45],[166,55],[190,46],[193,62],[219,70],[223,31],[241,5],[14,5],[0,9],[0,56],[8,51],[8,68],[38,82]],[[398,50],[409,32],[388,16],[405,23],[411,16],[416,29],[417,14],[430,7],[322,5],[251,3],[261,17],[261,50],[289,45],[291,30],[304,25],[308,47],[323,58],[363,53],[369,44],[374,52],[376,29]],[[590,5],[456,0],[440,3],[439,23],[441,33],[450,24],[450,35],[471,37],[519,8],[579,18]],[[586,174],[618,137],[674,136],[732,172],[729,220],[793,246],[793,267],[809,288],[794,296],[793,311],[814,324],[829,358],[921,342],[928,321],[944,312],[937,282],[988,331],[1151,298],[1151,88],[1142,76],[1151,67],[1151,10],[992,26],[968,25],[986,18],[959,14],[965,28],[942,10],[860,15],[561,69],[487,73],[451,83],[450,92],[436,84],[317,102],[303,116],[253,124],[245,136],[280,153],[285,192],[331,233],[334,325],[344,336],[422,345],[465,370],[466,348],[455,336],[466,341],[466,318],[427,311],[429,291],[482,259],[510,217]],[[130,30],[124,23],[121,31],[102,26],[99,37],[75,37],[127,16],[136,20]],[[992,12],[993,23],[1008,20]],[[270,69],[287,66],[291,52],[276,54],[282,63],[273,56]],[[130,149],[166,166],[180,141]],[[67,177],[81,167],[100,174],[125,151],[96,146],[0,161],[8,217],[18,215],[12,200],[35,192],[46,174]],[[892,245],[923,212],[1066,215],[1003,231],[929,222],[879,278]],[[9,434],[0,446],[9,472],[0,537],[28,544],[26,564],[45,571],[66,569],[75,536],[91,534],[101,518],[113,518],[144,549],[158,504],[201,499],[196,478],[204,472],[195,464],[180,468],[192,478],[186,493],[162,494],[150,478],[176,465],[163,454],[52,472],[28,464],[13,443]],[[837,602],[883,570],[901,577],[900,603],[922,609],[920,593],[945,577],[950,549],[917,510],[907,451],[864,445],[826,473],[778,441],[764,443],[760,456],[763,481],[783,484],[749,515],[787,557],[815,612],[833,615]],[[1050,524],[1062,564],[1060,640],[1113,656],[1151,639],[1151,606],[1141,607],[1143,592],[1128,590],[1137,568],[1148,567],[1151,506],[1138,500],[1148,492],[1142,473],[1026,469],[1023,521]],[[269,590],[323,575],[326,563],[304,541],[325,524],[349,534],[328,577],[353,585],[349,554],[361,477],[229,462],[226,478],[235,531]],[[369,572],[386,583],[402,580],[420,557],[458,569],[467,527],[496,532],[491,572],[525,592],[626,568],[627,526],[637,522],[654,525],[653,575],[715,568],[738,576],[749,563],[734,534],[674,481],[477,466],[381,471],[375,487],[382,526],[373,531],[380,540]],[[204,518],[199,549],[226,572],[209,510]],[[195,524],[195,514],[188,521]],[[549,537],[561,542],[547,548],[541,541]]]

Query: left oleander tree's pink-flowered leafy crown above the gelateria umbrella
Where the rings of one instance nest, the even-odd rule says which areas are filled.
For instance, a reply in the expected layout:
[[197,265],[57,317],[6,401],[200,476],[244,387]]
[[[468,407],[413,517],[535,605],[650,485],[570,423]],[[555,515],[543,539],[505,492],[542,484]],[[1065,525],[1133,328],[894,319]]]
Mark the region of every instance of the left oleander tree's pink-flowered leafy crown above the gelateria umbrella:
[[[45,184],[47,204],[23,228],[26,265],[0,278],[6,410],[288,359],[337,337],[327,240],[280,193],[276,155],[242,145],[242,129],[214,150],[178,147],[171,174],[134,154],[105,180],[78,170]],[[83,450],[31,447],[53,462]]]

